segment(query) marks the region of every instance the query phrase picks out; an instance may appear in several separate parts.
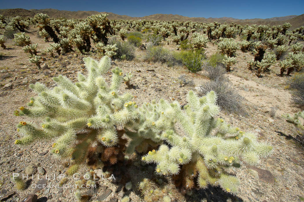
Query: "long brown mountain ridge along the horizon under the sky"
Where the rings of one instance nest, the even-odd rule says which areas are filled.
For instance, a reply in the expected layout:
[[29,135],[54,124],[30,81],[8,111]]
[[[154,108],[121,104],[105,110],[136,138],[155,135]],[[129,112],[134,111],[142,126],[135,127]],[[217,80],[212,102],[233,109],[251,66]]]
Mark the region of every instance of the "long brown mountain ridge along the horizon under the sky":
[[0,9],[0,14],[3,16],[22,16],[22,17],[33,17],[37,13],[45,13],[53,18],[68,18],[68,19],[85,19],[90,15],[96,15],[99,13],[108,13],[109,19],[146,19],[146,20],[163,20],[163,21],[171,21],[171,20],[178,20],[178,21],[187,21],[191,20],[194,22],[235,22],[237,24],[245,25],[245,24],[269,24],[269,25],[282,25],[285,22],[289,22],[292,24],[293,28],[304,26],[304,14],[303,15],[287,15],[283,17],[273,17],[267,19],[235,19],[230,17],[222,17],[222,18],[203,18],[203,17],[186,17],[182,15],[173,15],[173,14],[154,14],[148,15],[144,17],[130,17],[127,15],[118,15],[112,12],[97,12],[97,11],[64,11],[64,10],[57,10],[57,9]]

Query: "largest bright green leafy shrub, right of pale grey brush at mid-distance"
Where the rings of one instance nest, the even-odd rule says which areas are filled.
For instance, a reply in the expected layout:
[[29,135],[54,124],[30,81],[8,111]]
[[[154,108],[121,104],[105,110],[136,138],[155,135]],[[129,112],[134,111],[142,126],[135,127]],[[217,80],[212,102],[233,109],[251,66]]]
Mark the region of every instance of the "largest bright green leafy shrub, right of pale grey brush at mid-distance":
[[202,70],[203,59],[205,58],[203,50],[184,50],[174,54],[177,63],[182,63],[192,73]]

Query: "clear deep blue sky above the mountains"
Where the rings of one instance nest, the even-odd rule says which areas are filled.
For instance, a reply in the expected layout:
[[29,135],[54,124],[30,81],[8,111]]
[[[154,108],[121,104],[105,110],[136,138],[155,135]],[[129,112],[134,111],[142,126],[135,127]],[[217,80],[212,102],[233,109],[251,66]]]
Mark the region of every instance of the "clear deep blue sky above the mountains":
[[302,15],[304,0],[0,0],[0,9],[58,9],[113,12],[143,17],[157,13],[188,17],[232,17],[238,19]]

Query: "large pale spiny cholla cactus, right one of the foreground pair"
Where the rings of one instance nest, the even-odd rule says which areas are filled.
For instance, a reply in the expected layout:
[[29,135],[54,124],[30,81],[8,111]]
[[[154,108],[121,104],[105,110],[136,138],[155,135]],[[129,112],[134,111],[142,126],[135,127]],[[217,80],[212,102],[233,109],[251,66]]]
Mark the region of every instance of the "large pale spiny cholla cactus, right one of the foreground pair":
[[[150,119],[152,129],[166,128],[156,137],[170,147],[162,144],[142,160],[156,163],[159,174],[180,174],[177,183],[185,189],[194,187],[193,180],[196,180],[200,188],[206,188],[208,184],[221,186],[224,191],[235,194],[239,180],[227,174],[225,169],[233,166],[238,157],[249,165],[257,165],[260,157],[269,155],[272,146],[258,143],[255,134],[242,132],[223,119],[215,118],[219,113],[216,99],[214,91],[201,98],[190,91],[185,112],[181,111],[178,102],[169,104],[161,100],[158,104],[148,104],[147,107],[154,110]],[[174,128],[176,122],[185,134],[178,134]]]

